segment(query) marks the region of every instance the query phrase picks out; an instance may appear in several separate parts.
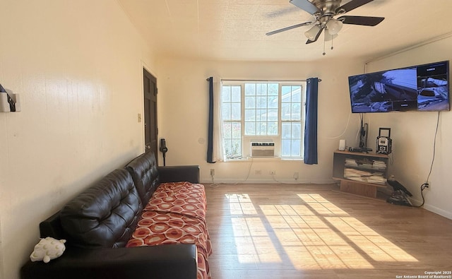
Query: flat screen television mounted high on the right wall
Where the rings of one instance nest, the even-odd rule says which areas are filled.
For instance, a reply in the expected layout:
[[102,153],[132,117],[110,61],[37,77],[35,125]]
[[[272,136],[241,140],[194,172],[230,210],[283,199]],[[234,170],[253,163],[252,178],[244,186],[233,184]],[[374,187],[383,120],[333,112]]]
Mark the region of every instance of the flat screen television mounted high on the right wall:
[[352,112],[448,111],[449,61],[349,76]]

